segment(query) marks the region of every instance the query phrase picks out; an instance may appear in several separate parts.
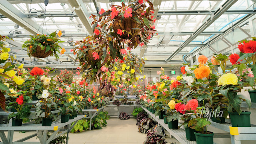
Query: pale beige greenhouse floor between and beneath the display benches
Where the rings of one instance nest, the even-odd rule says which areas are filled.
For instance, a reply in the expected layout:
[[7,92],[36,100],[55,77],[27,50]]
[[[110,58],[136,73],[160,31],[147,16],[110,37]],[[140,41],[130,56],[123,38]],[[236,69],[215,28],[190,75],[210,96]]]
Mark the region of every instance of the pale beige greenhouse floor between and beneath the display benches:
[[[145,133],[138,132],[136,126],[136,119],[119,120],[117,118],[110,118],[107,120],[108,126],[99,130],[91,130],[79,133],[69,134],[69,144],[143,144],[146,139]],[[31,135],[35,132],[19,133],[14,132],[14,141]],[[7,133],[6,133],[7,135]],[[169,142],[177,142],[174,138],[166,138]],[[27,141],[39,141],[31,138]],[[179,144],[179,142],[177,142]]]

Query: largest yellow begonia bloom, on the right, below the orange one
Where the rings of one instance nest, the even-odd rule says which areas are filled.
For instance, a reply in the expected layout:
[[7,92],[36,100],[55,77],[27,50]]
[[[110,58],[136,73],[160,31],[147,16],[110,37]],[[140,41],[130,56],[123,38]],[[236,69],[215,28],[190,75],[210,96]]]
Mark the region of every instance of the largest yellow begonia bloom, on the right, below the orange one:
[[219,80],[218,80],[218,85],[237,85],[238,83],[238,77],[236,74],[233,73],[226,73],[223,74]]

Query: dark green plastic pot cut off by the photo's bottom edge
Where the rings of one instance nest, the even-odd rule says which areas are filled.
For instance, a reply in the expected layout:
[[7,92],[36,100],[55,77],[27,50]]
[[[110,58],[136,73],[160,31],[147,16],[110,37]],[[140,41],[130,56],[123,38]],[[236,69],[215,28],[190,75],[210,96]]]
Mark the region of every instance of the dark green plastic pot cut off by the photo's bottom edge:
[[194,134],[197,144],[213,144],[213,132],[209,134],[194,132]]

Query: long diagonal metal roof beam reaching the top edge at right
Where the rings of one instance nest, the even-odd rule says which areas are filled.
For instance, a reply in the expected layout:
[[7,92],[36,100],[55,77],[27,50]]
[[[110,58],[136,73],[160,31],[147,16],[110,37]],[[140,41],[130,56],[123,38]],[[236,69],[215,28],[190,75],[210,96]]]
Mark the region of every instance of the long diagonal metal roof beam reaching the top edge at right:
[[206,22],[203,23],[181,46],[179,49],[166,59],[166,63],[170,61],[177,53],[179,53],[184,47],[186,47],[190,42],[192,42],[198,35],[200,35],[207,27],[209,27],[215,20],[217,20],[224,12],[226,12],[232,5],[234,5],[238,0],[227,0],[213,15],[208,18]]

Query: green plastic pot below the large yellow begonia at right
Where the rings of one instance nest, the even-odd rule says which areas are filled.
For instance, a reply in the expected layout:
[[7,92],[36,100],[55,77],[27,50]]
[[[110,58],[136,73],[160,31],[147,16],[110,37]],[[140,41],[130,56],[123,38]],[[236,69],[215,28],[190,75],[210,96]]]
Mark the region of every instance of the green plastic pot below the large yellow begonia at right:
[[250,127],[250,114],[251,112],[241,112],[239,115],[237,112],[229,112],[229,117],[233,127]]

